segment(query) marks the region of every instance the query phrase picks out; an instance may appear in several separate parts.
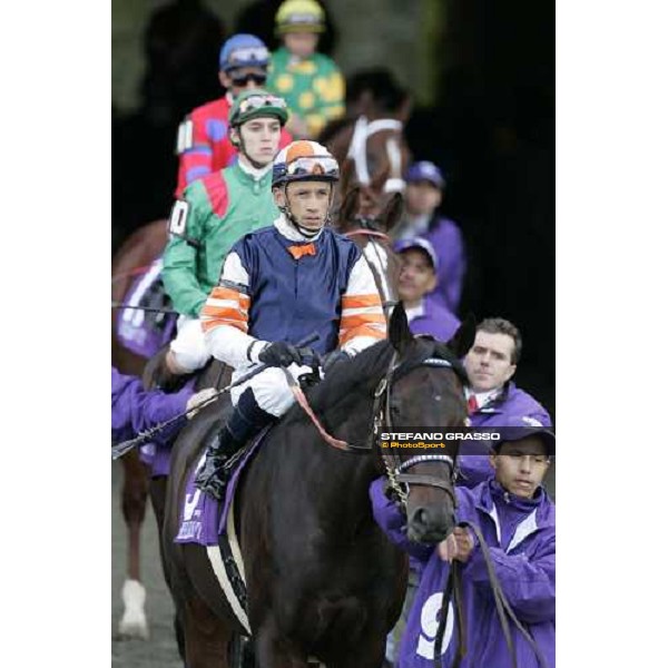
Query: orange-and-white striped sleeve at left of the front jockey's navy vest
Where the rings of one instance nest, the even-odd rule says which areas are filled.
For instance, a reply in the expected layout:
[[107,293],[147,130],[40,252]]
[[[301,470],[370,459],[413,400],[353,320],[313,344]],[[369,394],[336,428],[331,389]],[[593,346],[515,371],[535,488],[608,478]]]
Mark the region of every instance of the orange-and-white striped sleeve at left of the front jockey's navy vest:
[[[252,362],[256,363],[257,354],[264,345],[250,345],[258,340],[248,334],[248,273],[236,253],[225,259],[219,284],[210,292],[199,320],[210,354],[239,369]],[[252,351],[249,358],[248,351]]]

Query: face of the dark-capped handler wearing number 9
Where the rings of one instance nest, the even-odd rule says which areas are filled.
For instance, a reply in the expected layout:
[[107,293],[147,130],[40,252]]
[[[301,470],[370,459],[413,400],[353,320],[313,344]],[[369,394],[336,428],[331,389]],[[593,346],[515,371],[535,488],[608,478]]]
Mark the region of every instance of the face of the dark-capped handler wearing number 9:
[[515,497],[531,499],[543,481],[550,460],[540,436],[503,443],[499,454],[490,454],[497,482]]

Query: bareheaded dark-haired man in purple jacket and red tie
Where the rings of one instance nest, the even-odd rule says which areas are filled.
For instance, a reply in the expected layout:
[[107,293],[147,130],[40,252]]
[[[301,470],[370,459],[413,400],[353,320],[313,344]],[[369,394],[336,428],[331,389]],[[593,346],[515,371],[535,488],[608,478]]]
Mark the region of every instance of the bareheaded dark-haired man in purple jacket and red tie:
[[[520,331],[501,317],[488,317],[477,327],[473,346],[464,357],[469,374],[466,400],[472,426],[552,426],[550,415],[530,394],[511,382],[522,354]],[[460,450],[459,484],[473,488],[493,474],[487,455]]]

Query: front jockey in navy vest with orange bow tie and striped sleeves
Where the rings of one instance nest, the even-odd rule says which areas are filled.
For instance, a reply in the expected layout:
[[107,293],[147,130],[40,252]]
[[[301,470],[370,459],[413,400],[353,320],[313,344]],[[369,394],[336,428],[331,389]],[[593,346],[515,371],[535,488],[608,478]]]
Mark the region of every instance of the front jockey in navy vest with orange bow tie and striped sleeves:
[[[203,310],[207,346],[236,370],[233,380],[257,363],[269,366],[233,390],[235,411],[209,445],[197,487],[215,498],[228,475],[225,462],[293,405],[288,375],[311,372],[314,353],[325,355],[327,371],[386,336],[366,261],[326,227],[337,180],[338,164],[324,146],[301,140],[284,148],[272,184],[281,215],[234,246]],[[321,336],[313,350],[297,350],[313,331]]]

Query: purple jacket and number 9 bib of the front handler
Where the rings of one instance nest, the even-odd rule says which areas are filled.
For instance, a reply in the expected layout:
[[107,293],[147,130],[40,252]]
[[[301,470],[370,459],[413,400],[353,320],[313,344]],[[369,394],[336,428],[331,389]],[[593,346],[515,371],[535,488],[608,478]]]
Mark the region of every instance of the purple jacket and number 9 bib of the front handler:
[[[390,540],[421,559],[424,570],[402,638],[399,668],[433,668],[434,638],[443,600],[443,586],[450,566],[441,561],[433,546],[407,540],[404,518],[396,504],[383,494],[384,479],[371,485],[373,513]],[[522,501],[504,493],[495,481],[473,490],[456,489],[458,521],[480,527],[490,547],[494,570],[510,606],[528,628],[548,666],[554,667],[556,609],[556,520],[554,504],[544,490],[534,501]],[[504,504],[507,508],[504,508]],[[501,540],[499,540],[499,536]],[[482,550],[475,544],[462,569],[468,652],[461,668],[510,668],[511,657],[503,639],[494,607]],[[448,613],[443,637],[443,665],[450,666],[456,654],[456,630]],[[513,640],[518,666],[540,668],[538,658],[514,626]]]

